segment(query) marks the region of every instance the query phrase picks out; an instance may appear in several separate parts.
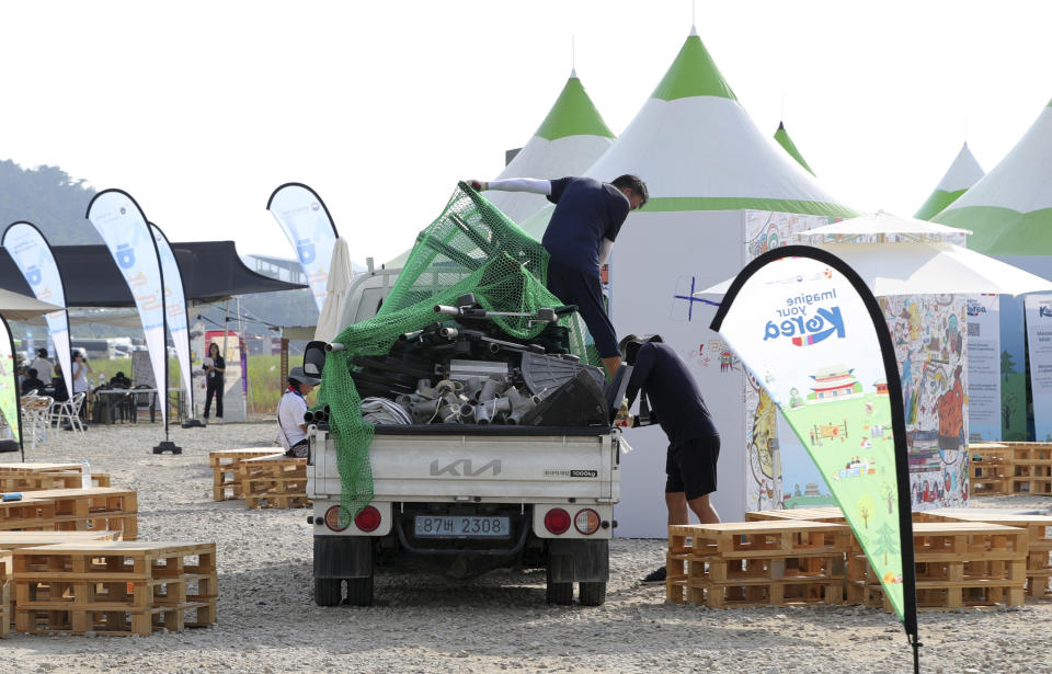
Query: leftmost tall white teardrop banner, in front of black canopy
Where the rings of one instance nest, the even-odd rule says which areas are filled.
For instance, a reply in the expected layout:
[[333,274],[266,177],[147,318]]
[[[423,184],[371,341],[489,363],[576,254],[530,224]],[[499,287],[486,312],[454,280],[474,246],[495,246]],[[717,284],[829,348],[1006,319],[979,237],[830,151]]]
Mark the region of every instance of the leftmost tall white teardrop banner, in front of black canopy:
[[[30,284],[33,295],[41,301],[48,301],[59,307],[66,306],[66,285],[62,275],[55,262],[55,254],[47,239],[34,225],[30,222],[14,222],[3,232],[0,245],[11,254],[15,266],[22,272],[25,282]],[[47,321],[47,331],[55,344],[55,355],[62,366],[62,379],[66,390],[73,390],[73,368],[69,354],[69,315],[66,309],[44,315]],[[35,354],[31,355],[32,359]]]

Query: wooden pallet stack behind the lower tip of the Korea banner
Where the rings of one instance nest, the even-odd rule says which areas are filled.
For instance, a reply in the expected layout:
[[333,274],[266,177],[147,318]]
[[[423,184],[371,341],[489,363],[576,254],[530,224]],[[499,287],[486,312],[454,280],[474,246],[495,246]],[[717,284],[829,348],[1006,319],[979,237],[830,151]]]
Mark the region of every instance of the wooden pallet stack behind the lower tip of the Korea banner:
[[[917,607],[1021,606],[1029,551],[1026,529],[975,522],[913,525]],[[868,560],[848,560],[848,602],[890,604]]]

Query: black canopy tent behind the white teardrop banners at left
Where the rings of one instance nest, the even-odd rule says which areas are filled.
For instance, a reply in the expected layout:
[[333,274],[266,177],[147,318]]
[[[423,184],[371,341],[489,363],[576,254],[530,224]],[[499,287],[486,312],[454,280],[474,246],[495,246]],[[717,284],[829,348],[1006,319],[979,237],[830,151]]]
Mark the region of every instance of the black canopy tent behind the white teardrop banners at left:
[[[135,306],[128,284],[105,245],[54,245],[52,251],[62,274],[68,307]],[[233,241],[172,243],[172,252],[191,304],[307,287],[256,274],[241,262]],[[0,255],[0,288],[33,296],[11,255]]]

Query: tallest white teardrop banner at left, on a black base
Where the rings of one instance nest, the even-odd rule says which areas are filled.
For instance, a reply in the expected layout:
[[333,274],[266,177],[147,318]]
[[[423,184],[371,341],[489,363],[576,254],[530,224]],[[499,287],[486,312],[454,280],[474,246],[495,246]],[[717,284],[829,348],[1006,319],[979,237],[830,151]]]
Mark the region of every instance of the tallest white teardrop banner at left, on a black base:
[[[153,235],[146,216],[127,193],[119,190],[100,192],[88,206],[88,219],[110,249],[121,275],[139,310],[146,347],[150,352],[153,379],[161,400],[168,395],[164,365],[168,350],[164,341],[164,285]],[[167,423],[168,405],[161,405],[161,421]]]

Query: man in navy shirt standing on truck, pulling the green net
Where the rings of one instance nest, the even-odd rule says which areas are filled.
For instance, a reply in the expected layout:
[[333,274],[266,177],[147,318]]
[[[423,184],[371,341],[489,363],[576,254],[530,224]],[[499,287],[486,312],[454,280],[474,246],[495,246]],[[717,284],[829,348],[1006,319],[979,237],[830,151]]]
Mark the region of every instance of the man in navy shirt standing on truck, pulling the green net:
[[603,301],[599,266],[606,262],[630,210],[648,199],[647,184],[634,175],[610,183],[592,178],[536,180],[512,178],[493,182],[468,181],[476,190],[533,192],[556,204],[541,243],[548,261],[548,289],[578,312],[595,340],[606,370],[614,376],[621,365],[617,334]]

